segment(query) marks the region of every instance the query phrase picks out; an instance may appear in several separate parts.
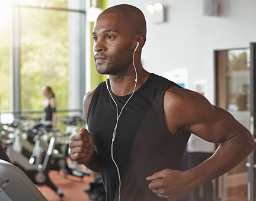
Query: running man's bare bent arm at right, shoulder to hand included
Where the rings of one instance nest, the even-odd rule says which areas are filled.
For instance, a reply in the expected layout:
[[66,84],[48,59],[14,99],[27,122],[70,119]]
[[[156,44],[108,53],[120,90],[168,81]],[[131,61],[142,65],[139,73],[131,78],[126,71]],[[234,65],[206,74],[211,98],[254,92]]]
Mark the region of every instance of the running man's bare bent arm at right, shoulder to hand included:
[[185,130],[220,146],[212,157],[191,170],[175,173],[164,170],[149,177],[148,180],[152,181],[149,189],[159,197],[177,200],[185,196],[195,187],[237,166],[254,148],[254,139],[248,129],[229,112],[211,105],[199,93],[170,87],[165,93],[164,111],[172,134]]

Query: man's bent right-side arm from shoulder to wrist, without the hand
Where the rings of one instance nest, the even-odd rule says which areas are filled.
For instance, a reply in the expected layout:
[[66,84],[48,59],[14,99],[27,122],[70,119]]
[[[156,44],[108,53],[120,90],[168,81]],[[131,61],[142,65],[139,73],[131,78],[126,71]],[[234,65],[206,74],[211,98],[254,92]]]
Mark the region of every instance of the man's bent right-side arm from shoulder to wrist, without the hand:
[[[199,93],[187,89],[175,89],[174,92],[168,91],[164,102],[169,129],[173,132],[175,129],[184,129],[206,141],[220,144],[210,160],[192,170],[196,176],[202,175],[202,170],[209,173],[204,178],[197,177],[201,180],[199,186],[231,170],[251,153],[254,148],[251,133],[229,112],[211,105]],[[178,102],[171,103],[172,99]],[[175,111],[180,110],[179,115],[175,115],[175,124],[172,121],[174,106]]]

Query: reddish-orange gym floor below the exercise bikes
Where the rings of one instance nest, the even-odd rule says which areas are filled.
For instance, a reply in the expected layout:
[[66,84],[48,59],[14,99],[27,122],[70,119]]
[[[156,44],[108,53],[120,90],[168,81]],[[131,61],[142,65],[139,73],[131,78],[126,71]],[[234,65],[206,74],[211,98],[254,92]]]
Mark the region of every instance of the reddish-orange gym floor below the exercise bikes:
[[63,197],[59,197],[46,185],[37,186],[48,201],[91,201],[85,192],[89,188],[89,183],[92,182],[91,176],[85,175],[83,178],[79,178],[68,175],[65,177],[62,172],[52,170],[49,177],[62,190]]

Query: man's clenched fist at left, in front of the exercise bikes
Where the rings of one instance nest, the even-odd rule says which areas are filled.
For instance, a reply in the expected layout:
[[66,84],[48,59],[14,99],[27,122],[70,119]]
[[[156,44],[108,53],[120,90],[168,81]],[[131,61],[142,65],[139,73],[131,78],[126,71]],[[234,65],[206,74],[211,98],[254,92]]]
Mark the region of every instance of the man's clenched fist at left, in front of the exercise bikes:
[[87,129],[81,128],[80,132],[71,137],[71,142],[69,143],[71,158],[78,163],[87,165],[94,153],[94,141]]

